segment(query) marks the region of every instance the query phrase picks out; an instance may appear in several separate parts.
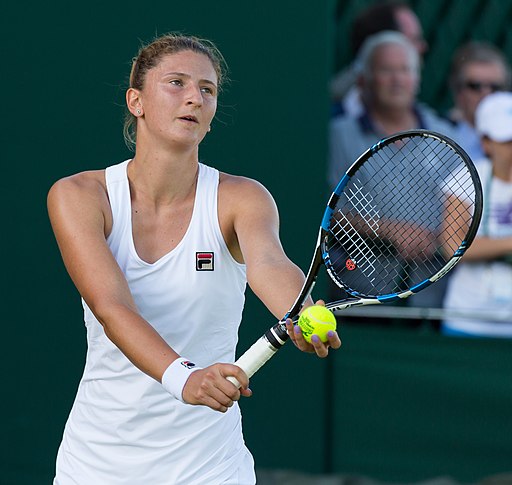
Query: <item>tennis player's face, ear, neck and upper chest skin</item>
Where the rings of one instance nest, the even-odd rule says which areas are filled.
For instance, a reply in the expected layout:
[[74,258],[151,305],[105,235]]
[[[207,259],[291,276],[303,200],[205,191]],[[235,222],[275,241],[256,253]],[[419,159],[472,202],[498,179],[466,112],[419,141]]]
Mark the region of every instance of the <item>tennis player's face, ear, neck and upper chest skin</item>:
[[217,91],[209,59],[183,51],[165,56],[151,69],[142,91],[130,88],[126,93],[128,108],[137,117],[135,157],[128,166],[134,239],[148,262],[173,249],[188,227],[199,144],[215,115]]

